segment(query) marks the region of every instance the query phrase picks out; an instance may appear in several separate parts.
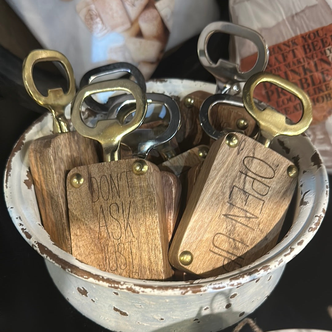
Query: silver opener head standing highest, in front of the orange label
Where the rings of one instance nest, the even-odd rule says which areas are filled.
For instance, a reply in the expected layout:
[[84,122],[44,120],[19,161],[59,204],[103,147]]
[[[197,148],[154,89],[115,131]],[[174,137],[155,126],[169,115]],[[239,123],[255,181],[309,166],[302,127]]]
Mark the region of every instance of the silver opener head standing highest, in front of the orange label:
[[[257,47],[257,60],[252,69],[242,72],[237,63],[219,59],[214,63],[209,57],[207,44],[216,32],[235,35],[252,41]],[[217,81],[217,92],[225,93],[237,82],[245,82],[257,72],[264,71],[269,58],[269,49],[263,37],[256,31],[230,22],[212,22],[201,32],[197,42],[198,58],[203,67],[209,71]],[[239,88],[239,87],[238,87]],[[238,90],[235,89],[235,93]]]

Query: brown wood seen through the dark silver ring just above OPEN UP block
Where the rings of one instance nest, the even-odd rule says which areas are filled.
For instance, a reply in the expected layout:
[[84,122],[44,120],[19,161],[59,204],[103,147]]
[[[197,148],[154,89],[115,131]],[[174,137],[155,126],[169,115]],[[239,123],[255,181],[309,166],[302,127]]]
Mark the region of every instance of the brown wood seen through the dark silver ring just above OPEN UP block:
[[243,132],[247,136],[251,136],[254,130],[257,129],[257,124],[244,107],[219,103],[212,106],[209,112],[210,123],[213,128],[220,131],[226,128],[239,130],[236,124],[239,119],[244,119],[248,122],[248,127]]

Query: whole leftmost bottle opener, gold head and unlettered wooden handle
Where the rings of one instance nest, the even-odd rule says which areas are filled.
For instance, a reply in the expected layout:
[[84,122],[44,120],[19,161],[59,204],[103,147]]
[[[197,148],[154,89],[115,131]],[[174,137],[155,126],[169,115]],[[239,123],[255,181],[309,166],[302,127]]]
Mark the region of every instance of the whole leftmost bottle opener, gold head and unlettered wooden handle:
[[[67,93],[57,88],[43,96],[38,91],[32,73],[34,65],[41,61],[59,61],[62,64],[69,83]],[[54,135],[36,139],[29,148],[30,171],[42,223],[51,240],[71,253],[65,179],[73,167],[98,162],[95,145],[77,132],[69,132],[64,109],[75,96],[75,79],[63,54],[45,49],[32,51],[23,62],[23,82],[29,95],[37,104],[49,109],[53,118]]]

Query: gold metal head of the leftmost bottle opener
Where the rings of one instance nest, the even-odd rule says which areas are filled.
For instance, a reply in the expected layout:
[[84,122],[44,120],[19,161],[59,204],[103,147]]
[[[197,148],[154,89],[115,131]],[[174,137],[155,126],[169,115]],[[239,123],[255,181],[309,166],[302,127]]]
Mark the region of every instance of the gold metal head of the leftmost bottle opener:
[[[60,62],[67,74],[68,91],[63,92],[62,88],[49,89],[47,96],[42,95],[34,82],[33,69],[36,63],[42,61]],[[64,116],[65,107],[71,103],[75,96],[75,78],[73,69],[68,59],[60,52],[48,49],[36,49],[29,53],[23,62],[23,83],[28,94],[37,104],[50,110],[53,117],[53,132],[69,131],[68,121]]]

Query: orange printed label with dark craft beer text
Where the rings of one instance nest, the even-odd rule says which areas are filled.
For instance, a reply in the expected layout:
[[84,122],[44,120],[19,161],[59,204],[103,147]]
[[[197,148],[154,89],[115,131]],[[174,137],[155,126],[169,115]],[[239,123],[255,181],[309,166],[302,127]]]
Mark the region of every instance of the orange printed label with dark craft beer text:
[[[297,84],[311,98],[313,121],[326,120],[332,113],[332,24],[292,37],[269,47],[267,72]],[[257,53],[241,60],[241,69],[251,69]],[[297,122],[300,101],[270,83],[257,86],[254,96]]]

